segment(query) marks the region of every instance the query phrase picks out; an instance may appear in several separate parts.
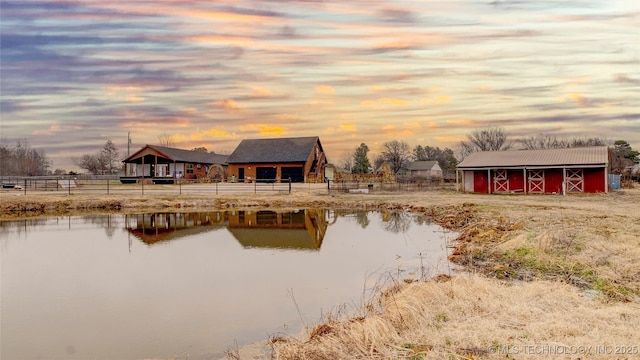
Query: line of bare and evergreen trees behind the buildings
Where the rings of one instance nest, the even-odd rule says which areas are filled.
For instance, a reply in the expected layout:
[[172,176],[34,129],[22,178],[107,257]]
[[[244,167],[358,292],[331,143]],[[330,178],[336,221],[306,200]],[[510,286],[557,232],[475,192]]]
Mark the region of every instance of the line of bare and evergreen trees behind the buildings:
[[[173,138],[166,134],[158,137],[164,146],[171,146]],[[453,174],[460,161],[476,151],[500,151],[510,149],[559,149],[587,146],[608,146],[610,171],[621,174],[634,164],[640,163],[640,152],[631,148],[625,140],[611,141],[603,138],[562,139],[548,134],[537,134],[511,140],[509,134],[499,127],[479,128],[471,131],[466,140],[461,141],[457,153],[450,148],[416,145],[413,148],[403,140],[391,140],[382,144],[380,153],[369,160],[370,149],[361,143],[343,157],[338,166],[352,173],[371,173],[386,162],[397,173],[411,161],[437,161],[444,174]],[[194,148],[192,151],[208,152],[206,148]],[[111,140],[107,140],[95,153],[74,158],[73,163],[80,169],[94,175],[113,175],[122,169],[120,152]],[[51,161],[44,150],[32,148],[26,140],[17,141],[11,146],[0,141],[0,176],[43,176],[62,175],[66,171],[51,171]],[[70,172],[73,174],[73,172]]]

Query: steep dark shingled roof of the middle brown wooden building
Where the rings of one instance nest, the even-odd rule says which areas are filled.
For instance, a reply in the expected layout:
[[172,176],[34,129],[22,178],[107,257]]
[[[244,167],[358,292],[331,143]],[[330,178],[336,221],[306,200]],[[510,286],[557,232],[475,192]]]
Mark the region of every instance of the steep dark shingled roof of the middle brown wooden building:
[[306,162],[316,143],[322,150],[317,136],[242,140],[227,162],[229,164]]

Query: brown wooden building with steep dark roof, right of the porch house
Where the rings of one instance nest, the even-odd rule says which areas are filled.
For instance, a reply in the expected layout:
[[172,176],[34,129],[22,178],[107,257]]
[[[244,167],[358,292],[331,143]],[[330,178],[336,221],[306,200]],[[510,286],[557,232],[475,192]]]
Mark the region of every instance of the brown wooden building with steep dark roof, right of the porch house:
[[323,182],[327,164],[313,137],[242,140],[227,160],[232,181]]

